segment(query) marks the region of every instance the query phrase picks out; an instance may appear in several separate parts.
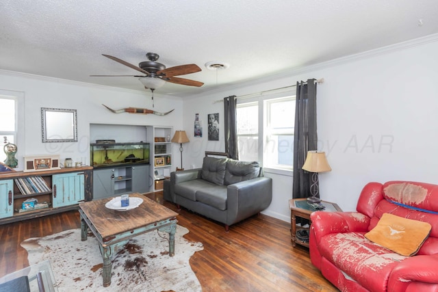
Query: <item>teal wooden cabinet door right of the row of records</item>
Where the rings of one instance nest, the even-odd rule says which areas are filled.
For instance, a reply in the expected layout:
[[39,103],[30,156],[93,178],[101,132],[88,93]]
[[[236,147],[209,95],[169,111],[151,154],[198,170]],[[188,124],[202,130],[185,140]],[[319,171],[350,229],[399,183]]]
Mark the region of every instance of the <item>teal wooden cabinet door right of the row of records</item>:
[[54,174],[52,185],[53,208],[77,204],[85,198],[83,172]]

